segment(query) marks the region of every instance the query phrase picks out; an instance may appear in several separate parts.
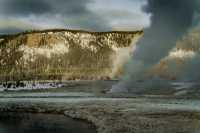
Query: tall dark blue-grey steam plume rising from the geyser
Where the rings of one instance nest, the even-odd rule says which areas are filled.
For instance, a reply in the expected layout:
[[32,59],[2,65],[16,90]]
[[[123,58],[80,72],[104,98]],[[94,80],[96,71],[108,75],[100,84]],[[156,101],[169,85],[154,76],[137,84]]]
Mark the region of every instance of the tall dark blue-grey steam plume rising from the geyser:
[[[199,11],[199,3],[198,0],[148,0],[144,11],[152,15],[151,26],[145,30],[144,38],[139,41],[132,60],[125,67],[125,75],[118,85],[113,86],[112,92],[145,88],[146,82],[142,83],[142,87],[139,84],[139,87],[137,81],[147,78],[145,74],[149,68],[165,57],[176,41],[193,24],[197,24],[198,19],[194,19],[194,16]],[[148,79],[148,82],[151,81]],[[156,84],[152,82],[147,84],[148,87]]]

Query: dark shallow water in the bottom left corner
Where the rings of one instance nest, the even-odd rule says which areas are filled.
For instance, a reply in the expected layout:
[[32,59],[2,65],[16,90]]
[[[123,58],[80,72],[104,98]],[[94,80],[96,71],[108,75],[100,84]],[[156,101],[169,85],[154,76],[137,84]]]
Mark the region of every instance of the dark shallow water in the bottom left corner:
[[0,133],[96,133],[96,129],[64,115],[1,112]]

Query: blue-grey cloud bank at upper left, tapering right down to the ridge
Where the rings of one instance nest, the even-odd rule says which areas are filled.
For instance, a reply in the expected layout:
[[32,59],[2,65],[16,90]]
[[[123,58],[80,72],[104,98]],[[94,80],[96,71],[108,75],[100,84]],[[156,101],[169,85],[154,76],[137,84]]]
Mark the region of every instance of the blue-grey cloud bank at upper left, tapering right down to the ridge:
[[[28,19],[34,15],[35,18],[38,17],[38,25],[42,19],[45,22],[49,19],[51,25],[51,22],[58,22],[61,24],[60,27],[66,25],[66,27],[89,30],[110,30],[111,27],[103,18],[88,10],[87,4],[91,2],[91,0],[1,0],[0,16]],[[35,18],[34,21],[37,22]],[[46,22],[46,25],[49,22]],[[0,32],[2,33],[1,29]]]

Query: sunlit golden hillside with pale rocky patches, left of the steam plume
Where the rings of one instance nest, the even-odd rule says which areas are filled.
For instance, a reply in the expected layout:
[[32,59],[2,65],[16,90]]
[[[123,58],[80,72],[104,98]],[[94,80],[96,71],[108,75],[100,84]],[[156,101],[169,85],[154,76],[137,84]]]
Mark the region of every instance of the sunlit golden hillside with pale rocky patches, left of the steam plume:
[[0,40],[0,78],[115,78],[142,35],[142,31],[46,30],[5,36]]

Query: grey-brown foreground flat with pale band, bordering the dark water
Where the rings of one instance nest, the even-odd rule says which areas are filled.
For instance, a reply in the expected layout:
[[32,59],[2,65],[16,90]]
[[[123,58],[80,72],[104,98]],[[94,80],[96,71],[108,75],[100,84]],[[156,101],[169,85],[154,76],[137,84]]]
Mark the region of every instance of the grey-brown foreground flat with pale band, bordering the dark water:
[[98,133],[199,133],[200,101],[161,98],[1,98],[1,112],[64,114]]

